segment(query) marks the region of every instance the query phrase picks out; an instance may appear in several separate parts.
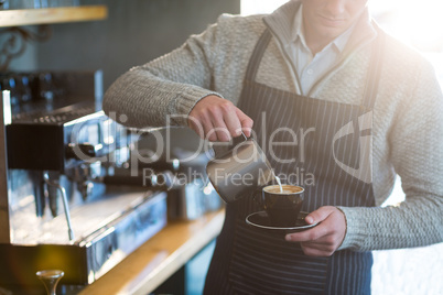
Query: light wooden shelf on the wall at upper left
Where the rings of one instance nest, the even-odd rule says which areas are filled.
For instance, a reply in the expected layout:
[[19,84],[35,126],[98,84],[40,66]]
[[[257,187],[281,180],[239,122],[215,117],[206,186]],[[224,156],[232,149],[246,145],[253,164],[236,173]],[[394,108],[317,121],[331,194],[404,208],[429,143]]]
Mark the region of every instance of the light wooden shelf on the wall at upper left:
[[0,11],[0,28],[63,22],[98,21],[108,17],[106,6]]

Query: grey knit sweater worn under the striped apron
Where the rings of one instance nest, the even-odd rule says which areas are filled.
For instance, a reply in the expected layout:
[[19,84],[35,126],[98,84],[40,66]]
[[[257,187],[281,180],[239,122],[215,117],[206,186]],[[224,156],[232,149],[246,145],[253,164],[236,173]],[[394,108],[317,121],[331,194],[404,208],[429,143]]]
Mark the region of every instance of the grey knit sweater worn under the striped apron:
[[[170,54],[134,67],[107,90],[104,110],[128,116],[127,124],[159,127],[168,114],[188,114],[203,97],[216,94],[237,103],[246,67],[268,26],[274,37],[257,81],[300,94],[284,45],[299,9],[290,1],[270,15],[222,15],[217,23]],[[309,96],[359,103],[376,32],[361,22],[339,65]],[[341,249],[356,251],[420,247],[443,241],[443,96],[432,66],[417,52],[388,37],[374,110],[374,208],[339,207],[347,232]],[[118,117],[117,117],[118,118]],[[186,125],[184,119],[176,119]],[[406,201],[380,207],[396,175]]]

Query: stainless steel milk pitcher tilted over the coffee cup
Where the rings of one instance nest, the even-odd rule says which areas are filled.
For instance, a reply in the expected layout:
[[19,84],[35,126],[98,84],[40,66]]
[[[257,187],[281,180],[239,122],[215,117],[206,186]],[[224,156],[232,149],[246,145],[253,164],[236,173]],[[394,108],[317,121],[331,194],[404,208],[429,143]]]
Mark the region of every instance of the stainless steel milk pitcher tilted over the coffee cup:
[[226,201],[250,195],[272,179],[271,166],[258,143],[242,134],[224,151],[214,148],[215,157],[206,166],[207,176]]

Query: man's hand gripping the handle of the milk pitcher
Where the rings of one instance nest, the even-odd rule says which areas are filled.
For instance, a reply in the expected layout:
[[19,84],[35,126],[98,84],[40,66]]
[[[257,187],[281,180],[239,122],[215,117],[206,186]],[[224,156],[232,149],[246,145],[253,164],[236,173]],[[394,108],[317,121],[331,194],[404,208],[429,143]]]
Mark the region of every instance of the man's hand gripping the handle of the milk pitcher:
[[209,141],[230,141],[240,135],[241,131],[250,136],[253,123],[233,102],[214,95],[194,106],[187,122],[202,139]]

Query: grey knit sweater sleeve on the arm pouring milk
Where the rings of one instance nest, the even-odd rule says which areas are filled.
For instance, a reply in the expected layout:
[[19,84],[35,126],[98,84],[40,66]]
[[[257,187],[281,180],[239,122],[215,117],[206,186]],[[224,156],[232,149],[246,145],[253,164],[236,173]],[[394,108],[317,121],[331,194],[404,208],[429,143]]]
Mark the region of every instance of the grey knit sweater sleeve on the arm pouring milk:
[[180,48],[120,76],[106,91],[104,110],[136,128],[186,125],[186,116],[210,91],[217,25],[192,35]]

